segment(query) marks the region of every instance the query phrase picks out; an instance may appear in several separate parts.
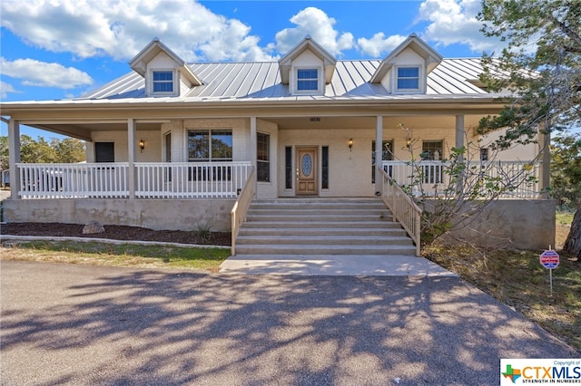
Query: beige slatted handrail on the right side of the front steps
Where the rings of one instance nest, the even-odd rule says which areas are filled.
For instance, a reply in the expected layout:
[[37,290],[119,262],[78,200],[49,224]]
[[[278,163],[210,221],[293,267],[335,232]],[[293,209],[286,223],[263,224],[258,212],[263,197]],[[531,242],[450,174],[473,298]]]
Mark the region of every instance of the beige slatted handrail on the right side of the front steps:
[[380,197],[389,207],[393,217],[408,233],[416,244],[416,256],[421,254],[421,213],[418,204],[398,185],[395,179],[382,168],[377,168],[377,175],[381,179]]

